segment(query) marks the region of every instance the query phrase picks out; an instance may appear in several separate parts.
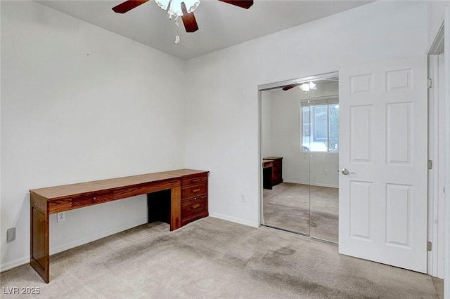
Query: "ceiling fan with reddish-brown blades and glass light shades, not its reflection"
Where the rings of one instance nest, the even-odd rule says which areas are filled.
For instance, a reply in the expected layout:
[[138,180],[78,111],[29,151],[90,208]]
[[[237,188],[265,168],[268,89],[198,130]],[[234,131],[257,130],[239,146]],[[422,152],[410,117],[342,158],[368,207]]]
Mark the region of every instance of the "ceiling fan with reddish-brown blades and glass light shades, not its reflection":
[[[113,7],[113,11],[116,13],[127,13],[131,9],[146,3],[149,0],[128,0],[124,1]],[[234,6],[239,6],[245,9],[250,8],[253,5],[253,0],[219,0],[221,2],[232,4]],[[172,17],[175,15],[176,18],[181,17],[183,20],[184,28],[186,32],[195,32],[198,30],[197,21],[193,11],[200,4],[199,0],[155,0],[155,2],[160,6],[160,8],[167,10],[167,13]],[[170,4],[170,7],[169,7]],[[188,8],[186,8],[188,4]],[[181,6],[181,11],[177,6]],[[176,19],[177,20],[177,19]]]

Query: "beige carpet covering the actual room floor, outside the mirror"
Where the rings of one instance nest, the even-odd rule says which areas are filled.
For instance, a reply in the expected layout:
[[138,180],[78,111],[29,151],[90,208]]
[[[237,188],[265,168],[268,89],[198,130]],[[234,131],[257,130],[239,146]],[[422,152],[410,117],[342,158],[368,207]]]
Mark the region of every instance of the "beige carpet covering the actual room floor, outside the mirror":
[[36,298],[438,298],[428,275],[215,218],[174,232],[141,225],[52,255],[50,284],[29,265],[0,279],[2,288],[40,288]]

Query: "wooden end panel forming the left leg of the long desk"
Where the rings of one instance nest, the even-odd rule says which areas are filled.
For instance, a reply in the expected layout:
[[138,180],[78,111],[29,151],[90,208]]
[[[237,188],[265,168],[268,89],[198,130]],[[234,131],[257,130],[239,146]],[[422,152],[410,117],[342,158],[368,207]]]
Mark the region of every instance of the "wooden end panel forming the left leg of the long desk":
[[48,284],[50,282],[49,209],[44,199],[30,198],[30,265]]

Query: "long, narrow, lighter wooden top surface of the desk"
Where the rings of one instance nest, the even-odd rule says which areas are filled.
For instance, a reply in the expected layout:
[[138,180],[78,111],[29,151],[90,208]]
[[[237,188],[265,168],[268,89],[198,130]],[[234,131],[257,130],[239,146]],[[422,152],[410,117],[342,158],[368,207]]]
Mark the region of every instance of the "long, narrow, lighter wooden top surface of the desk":
[[197,171],[193,169],[179,169],[176,171],[164,171],[160,173],[146,173],[141,175],[131,175],[122,178],[110,178],[106,180],[94,180],[92,182],[79,182],[70,185],[60,185],[55,187],[46,187],[30,190],[30,193],[38,194],[48,200],[61,199],[77,194],[86,194],[89,192],[109,191],[140,185],[151,182],[162,182],[169,180],[178,180],[184,175],[198,173],[207,173],[208,171]]

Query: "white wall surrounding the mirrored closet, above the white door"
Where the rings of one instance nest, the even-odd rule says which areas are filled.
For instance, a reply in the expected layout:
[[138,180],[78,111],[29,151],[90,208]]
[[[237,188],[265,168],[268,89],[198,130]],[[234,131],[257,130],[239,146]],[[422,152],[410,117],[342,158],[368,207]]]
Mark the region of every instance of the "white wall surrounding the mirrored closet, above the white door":
[[258,85],[425,55],[427,30],[425,2],[376,1],[189,60],[186,164],[211,171],[210,215],[259,225]]

